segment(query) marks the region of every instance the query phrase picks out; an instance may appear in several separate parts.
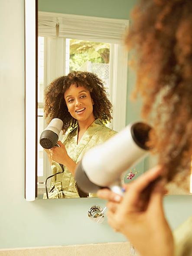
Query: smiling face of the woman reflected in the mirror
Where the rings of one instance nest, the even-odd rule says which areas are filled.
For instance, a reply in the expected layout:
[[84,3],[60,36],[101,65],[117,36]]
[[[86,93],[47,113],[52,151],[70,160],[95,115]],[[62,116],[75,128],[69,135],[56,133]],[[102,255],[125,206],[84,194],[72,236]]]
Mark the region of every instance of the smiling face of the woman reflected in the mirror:
[[94,121],[93,100],[84,86],[72,84],[64,94],[69,113],[78,121]]

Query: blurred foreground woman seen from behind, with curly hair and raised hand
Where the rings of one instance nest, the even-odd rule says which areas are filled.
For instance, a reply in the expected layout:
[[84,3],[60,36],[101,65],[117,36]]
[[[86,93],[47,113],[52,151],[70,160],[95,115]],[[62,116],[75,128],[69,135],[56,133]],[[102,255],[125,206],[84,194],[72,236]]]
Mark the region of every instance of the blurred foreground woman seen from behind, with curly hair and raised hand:
[[[192,218],[176,232],[174,252],[162,201],[165,183],[184,185],[191,168],[192,1],[141,0],[133,10],[126,44],[137,53],[136,93],[143,96],[143,118],[156,131],[150,143],[159,165],[131,182],[123,199],[106,189],[98,196],[109,200],[109,224],[141,256],[191,256]],[[147,186],[160,176],[164,178],[146,201]]]

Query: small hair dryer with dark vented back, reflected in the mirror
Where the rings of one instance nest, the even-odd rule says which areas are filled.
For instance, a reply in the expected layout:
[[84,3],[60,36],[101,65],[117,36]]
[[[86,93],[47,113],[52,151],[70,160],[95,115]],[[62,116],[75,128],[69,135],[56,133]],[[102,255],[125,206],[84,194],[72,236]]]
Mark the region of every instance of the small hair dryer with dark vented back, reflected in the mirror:
[[62,129],[63,121],[59,118],[53,118],[47,128],[42,131],[39,143],[43,148],[50,149],[56,146],[59,139],[59,133]]

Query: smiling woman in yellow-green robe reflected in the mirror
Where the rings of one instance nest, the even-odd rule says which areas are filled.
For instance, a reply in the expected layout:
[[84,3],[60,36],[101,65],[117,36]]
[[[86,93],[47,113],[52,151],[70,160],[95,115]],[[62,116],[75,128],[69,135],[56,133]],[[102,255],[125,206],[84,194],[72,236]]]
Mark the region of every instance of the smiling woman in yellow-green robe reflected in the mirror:
[[[74,180],[77,162],[89,149],[113,136],[116,131],[104,123],[111,121],[112,105],[101,79],[90,72],[72,72],[53,81],[45,91],[45,117],[60,118],[65,133],[59,147],[46,150],[53,174],[49,198],[86,197]],[[58,164],[59,163],[59,164]],[[92,195],[89,195],[92,196]]]

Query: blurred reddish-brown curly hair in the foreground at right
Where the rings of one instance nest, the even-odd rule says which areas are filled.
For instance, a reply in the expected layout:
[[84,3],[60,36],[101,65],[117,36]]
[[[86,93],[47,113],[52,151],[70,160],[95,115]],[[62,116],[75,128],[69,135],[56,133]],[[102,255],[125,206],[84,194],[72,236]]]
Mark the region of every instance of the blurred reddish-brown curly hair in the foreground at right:
[[142,115],[155,128],[154,152],[168,181],[191,168],[192,0],[141,0],[125,41],[134,49]]

